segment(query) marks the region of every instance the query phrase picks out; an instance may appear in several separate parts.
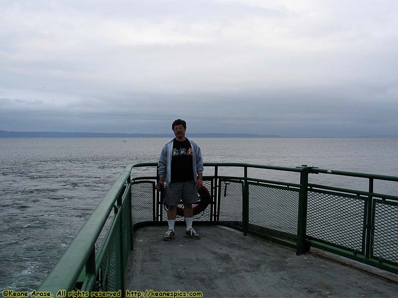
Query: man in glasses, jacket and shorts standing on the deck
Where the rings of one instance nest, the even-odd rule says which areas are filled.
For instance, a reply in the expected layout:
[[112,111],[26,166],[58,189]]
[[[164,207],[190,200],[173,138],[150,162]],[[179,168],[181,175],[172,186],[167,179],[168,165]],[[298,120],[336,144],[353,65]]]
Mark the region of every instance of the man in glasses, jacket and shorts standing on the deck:
[[[184,217],[187,224],[185,235],[199,239],[200,235],[192,227],[192,204],[198,202],[198,188],[202,186],[203,160],[199,146],[185,137],[187,123],[177,119],[172,124],[174,139],[163,147],[159,156],[159,184],[164,185],[167,222],[169,229],[163,235],[163,240],[175,237],[174,224],[177,216],[177,205],[184,203]],[[160,188],[156,185],[156,189]]]

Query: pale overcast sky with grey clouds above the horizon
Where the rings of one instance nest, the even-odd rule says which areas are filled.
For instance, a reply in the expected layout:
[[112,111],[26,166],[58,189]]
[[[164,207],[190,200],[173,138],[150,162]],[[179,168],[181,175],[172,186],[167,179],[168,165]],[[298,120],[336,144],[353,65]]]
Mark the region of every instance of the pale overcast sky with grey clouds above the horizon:
[[0,3],[0,130],[398,134],[397,0]]

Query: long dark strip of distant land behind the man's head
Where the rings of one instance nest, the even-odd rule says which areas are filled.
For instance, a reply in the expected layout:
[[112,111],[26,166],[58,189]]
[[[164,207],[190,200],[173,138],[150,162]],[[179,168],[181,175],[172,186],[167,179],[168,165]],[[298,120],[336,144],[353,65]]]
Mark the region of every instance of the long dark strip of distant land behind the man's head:
[[[187,134],[192,138],[282,138],[276,135],[257,134]],[[0,131],[0,138],[171,138],[170,134],[120,134],[120,133],[60,133],[60,132],[7,132]]]

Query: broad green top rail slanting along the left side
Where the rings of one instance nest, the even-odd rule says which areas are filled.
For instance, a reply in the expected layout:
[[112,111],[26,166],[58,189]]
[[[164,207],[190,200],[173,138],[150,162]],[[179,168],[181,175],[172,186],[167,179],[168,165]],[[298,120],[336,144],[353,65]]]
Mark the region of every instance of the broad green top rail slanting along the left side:
[[71,290],[79,278],[80,272],[96,244],[102,227],[117,200],[123,185],[130,176],[130,171],[123,171],[98,207],[81,228],[75,239],[68,246],[61,259],[47,275],[39,291],[57,293],[59,289]]

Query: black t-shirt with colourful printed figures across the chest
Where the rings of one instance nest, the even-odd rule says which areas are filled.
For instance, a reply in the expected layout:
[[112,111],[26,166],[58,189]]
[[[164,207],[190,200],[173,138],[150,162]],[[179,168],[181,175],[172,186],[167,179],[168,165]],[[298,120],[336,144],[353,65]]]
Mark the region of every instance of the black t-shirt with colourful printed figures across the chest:
[[179,142],[173,141],[173,152],[171,157],[171,182],[184,182],[194,180],[194,169],[192,167],[192,148],[188,139]]

